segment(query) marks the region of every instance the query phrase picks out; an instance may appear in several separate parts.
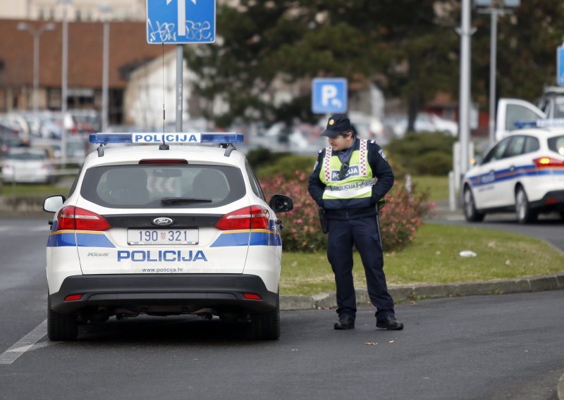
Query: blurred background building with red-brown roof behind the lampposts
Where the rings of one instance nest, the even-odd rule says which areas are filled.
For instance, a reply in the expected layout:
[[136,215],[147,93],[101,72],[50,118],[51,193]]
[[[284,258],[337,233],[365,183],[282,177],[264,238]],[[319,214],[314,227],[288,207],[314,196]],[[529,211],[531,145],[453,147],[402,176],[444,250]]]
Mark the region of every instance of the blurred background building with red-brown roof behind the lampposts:
[[[22,20],[0,20],[0,112],[32,108],[33,38],[18,30]],[[44,24],[25,20],[36,29]],[[40,37],[39,109],[61,109],[61,23]],[[102,108],[103,24],[68,24],[68,108]],[[145,22],[112,22],[109,49],[109,122],[123,123],[130,74],[175,46],[147,44]],[[159,99],[159,102],[161,99]]]

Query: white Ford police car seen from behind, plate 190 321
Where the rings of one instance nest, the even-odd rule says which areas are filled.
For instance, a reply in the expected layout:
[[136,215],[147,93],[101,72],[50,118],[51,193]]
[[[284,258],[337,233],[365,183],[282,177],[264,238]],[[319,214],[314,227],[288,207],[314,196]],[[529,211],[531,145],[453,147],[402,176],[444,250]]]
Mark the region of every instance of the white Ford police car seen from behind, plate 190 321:
[[[68,199],[50,196],[48,335],[147,315],[245,320],[280,335],[281,221],[234,143],[239,133],[92,134]],[[185,144],[222,143],[220,147]],[[110,143],[142,146],[104,147]],[[170,143],[170,144],[169,144]]]

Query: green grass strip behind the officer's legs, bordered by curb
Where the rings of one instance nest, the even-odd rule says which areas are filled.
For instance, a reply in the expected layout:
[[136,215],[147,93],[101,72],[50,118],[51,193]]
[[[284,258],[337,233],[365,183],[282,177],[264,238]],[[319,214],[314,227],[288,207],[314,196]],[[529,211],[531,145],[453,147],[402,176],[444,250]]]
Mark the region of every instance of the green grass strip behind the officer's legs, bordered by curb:
[[[476,257],[462,257],[471,250]],[[354,254],[356,287],[366,287],[360,255]],[[384,254],[388,286],[417,283],[473,282],[564,271],[564,254],[539,239],[510,232],[460,225],[427,223],[402,251]],[[325,253],[284,252],[281,294],[334,292]]]

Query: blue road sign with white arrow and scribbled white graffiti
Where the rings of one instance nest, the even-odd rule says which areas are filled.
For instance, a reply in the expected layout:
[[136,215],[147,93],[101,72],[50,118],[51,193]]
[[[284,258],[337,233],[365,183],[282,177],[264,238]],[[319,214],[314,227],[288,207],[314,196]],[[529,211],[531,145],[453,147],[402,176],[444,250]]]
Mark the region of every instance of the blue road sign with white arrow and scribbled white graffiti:
[[147,0],[147,43],[212,43],[216,0]]

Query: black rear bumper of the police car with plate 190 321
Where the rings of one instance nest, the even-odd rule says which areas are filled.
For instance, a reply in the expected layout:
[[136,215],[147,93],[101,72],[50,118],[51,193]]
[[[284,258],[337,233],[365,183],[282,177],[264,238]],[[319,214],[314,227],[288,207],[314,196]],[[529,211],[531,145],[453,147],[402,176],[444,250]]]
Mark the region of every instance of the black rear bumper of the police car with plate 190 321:
[[[258,294],[261,299],[246,299],[245,293]],[[80,299],[65,301],[71,294],[80,294]],[[276,308],[277,297],[256,275],[230,274],[74,275],[63,280],[59,292],[49,295],[57,313],[104,307],[164,314],[202,308],[266,313]]]

